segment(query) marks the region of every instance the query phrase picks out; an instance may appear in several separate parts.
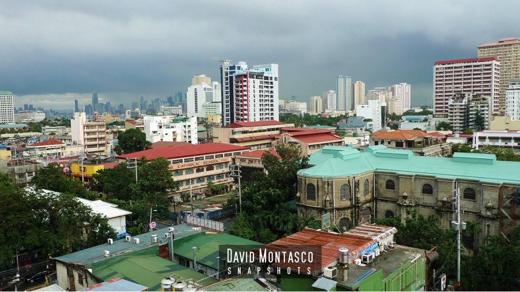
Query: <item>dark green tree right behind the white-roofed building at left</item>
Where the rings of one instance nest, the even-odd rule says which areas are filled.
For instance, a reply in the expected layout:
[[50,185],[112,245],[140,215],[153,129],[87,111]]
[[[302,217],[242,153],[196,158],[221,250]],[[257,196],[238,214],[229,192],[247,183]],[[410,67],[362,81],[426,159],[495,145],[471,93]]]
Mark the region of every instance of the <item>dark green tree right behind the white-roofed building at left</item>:
[[64,175],[58,164],[49,164],[44,168],[38,169],[31,182],[38,189],[69,193],[89,200],[96,198],[93,192],[85,189],[81,181]]

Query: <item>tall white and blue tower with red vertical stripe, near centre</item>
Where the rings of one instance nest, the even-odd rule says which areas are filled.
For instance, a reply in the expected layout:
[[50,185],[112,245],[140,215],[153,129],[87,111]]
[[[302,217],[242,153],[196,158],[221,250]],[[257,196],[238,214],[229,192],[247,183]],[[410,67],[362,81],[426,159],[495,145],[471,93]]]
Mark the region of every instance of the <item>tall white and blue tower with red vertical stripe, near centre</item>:
[[278,120],[278,64],[220,61],[222,124]]

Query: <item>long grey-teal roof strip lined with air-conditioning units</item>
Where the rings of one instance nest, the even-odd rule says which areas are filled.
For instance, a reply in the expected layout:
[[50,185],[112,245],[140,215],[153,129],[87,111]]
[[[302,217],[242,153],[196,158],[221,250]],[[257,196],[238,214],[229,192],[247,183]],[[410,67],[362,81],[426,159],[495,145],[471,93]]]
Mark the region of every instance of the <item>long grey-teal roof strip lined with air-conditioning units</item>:
[[[186,237],[188,235],[201,233],[201,231],[193,231],[192,226],[188,226],[188,224],[180,224],[175,225],[175,241],[180,240],[180,238]],[[203,230],[204,231],[204,230]],[[82,249],[80,251],[76,251],[75,253],[64,255],[61,257],[57,257],[56,260],[60,260],[63,262],[73,262],[79,263],[83,265],[87,265],[90,263],[105,261],[108,258],[103,256],[103,250],[110,251],[110,255],[121,255],[123,253],[128,253],[129,251],[137,251],[141,249],[148,248],[151,243],[152,234],[157,234],[159,240],[162,240],[162,236],[164,233],[168,232],[168,228],[163,228],[159,230],[154,230],[153,232],[143,233],[140,235],[132,236],[132,240],[134,238],[139,238],[139,243],[136,244],[134,242],[127,242],[123,238],[122,240],[116,240],[113,244],[101,244],[98,246]]]

